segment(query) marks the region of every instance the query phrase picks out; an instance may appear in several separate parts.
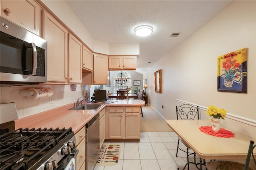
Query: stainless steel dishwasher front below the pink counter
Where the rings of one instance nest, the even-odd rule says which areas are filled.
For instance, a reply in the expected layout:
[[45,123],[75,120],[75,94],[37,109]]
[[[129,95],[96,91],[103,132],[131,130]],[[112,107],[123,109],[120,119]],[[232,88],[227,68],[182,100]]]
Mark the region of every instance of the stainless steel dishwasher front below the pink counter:
[[86,123],[86,170],[93,170],[100,151],[100,113]]

